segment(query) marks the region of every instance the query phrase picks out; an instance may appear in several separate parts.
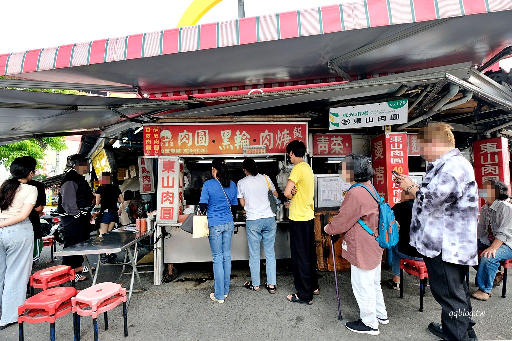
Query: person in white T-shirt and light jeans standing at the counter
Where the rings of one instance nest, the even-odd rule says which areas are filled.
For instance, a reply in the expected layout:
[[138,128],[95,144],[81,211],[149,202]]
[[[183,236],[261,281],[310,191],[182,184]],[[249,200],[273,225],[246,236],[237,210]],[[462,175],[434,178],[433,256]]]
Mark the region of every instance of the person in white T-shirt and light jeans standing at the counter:
[[275,265],[275,233],[278,224],[275,222],[275,213],[270,207],[268,191],[271,190],[275,196],[272,180],[264,174],[258,173],[258,166],[252,158],[246,158],[243,163],[245,175],[238,181],[238,198],[247,212],[246,230],[247,241],[249,242],[249,266],[251,268],[251,281],[246,281],[244,287],[254,291],[260,291],[260,249],[261,241],[265,248],[267,259],[267,282],[265,287],[270,293],[276,292]]

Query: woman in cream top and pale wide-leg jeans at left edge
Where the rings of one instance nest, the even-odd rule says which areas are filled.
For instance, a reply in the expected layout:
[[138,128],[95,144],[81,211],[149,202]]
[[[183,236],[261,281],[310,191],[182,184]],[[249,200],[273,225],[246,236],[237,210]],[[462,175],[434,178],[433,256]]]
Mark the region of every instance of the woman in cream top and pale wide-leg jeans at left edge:
[[35,174],[18,157],[11,165],[12,179],[0,187],[0,330],[17,323],[32,272],[34,228],[28,219],[37,200],[37,188],[27,185]]

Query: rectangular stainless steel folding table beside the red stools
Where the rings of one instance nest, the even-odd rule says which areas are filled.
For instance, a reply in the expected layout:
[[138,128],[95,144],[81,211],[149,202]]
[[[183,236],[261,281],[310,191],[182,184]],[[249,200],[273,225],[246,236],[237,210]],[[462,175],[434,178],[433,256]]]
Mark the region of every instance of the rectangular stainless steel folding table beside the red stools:
[[[129,227],[129,226],[127,226]],[[117,262],[111,263],[108,265],[123,265],[123,270],[121,271],[121,275],[118,280],[124,273],[125,265],[132,265],[132,280],[130,283],[130,289],[128,294],[128,304],[130,304],[130,300],[132,298],[133,285],[135,282],[135,276],[137,276],[137,280],[139,281],[140,287],[144,290],[144,285],[140,279],[139,271],[137,270],[137,243],[153,234],[153,230],[148,230],[144,233],[134,232],[134,231],[119,231],[114,230],[108,233],[105,233],[102,236],[97,236],[96,238],[92,238],[86,240],[82,243],[78,243],[72,245],[70,247],[66,247],[61,251],[57,251],[55,256],[77,256],[82,255],[83,259],[86,261],[86,264],[89,268],[89,273],[91,274],[91,278],[93,278],[93,285],[96,284],[98,279],[98,272],[101,264],[106,265],[105,263],[101,263],[101,255],[109,254],[109,253],[118,253],[126,250],[126,254],[130,258],[129,262]],[[131,246],[135,245],[134,253],[132,253]],[[91,263],[89,262],[88,255],[98,255],[98,264],[96,266],[96,271],[93,272]],[[134,256],[135,255],[135,256]]]

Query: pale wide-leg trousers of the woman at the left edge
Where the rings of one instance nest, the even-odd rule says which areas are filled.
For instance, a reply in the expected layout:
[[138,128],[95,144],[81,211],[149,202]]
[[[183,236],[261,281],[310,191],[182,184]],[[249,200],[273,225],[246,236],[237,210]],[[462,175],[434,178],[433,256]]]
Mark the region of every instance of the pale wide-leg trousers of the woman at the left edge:
[[33,256],[34,228],[29,219],[0,228],[2,324],[18,321],[18,306],[27,298]]

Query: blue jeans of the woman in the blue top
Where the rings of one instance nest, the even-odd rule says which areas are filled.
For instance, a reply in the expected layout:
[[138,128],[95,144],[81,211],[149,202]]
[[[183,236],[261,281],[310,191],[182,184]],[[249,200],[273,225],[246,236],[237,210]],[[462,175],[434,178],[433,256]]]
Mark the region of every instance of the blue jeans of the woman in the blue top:
[[224,300],[231,284],[231,238],[234,222],[210,226],[211,255],[214,258],[215,298]]

